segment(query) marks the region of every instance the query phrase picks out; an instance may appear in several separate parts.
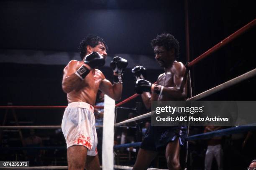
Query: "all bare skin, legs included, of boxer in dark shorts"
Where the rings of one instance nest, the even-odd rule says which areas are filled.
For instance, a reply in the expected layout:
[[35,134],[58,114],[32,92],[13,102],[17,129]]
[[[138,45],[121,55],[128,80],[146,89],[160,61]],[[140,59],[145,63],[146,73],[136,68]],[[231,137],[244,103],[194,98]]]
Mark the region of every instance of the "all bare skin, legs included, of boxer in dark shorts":
[[[156,54],[156,61],[158,61],[160,66],[164,67],[164,74],[159,75],[156,84],[164,86],[164,89],[162,95],[159,96],[154,93],[153,84],[151,86],[152,96],[149,92],[141,94],[147,109],[151,108],[151,101],[185,100],[187,96],[187,76],[184,77],[186,75],[186,67],[181,62],[175,61],[175,49],[172,48],[166,51],[163,46],[156,46],[154,53]],[[179,150],[178,138],[166,145],[165,157],[169,170],[180,169]],[[133,170],[147,170],[156,155],[157,152],[155,151],[140,148]]]

